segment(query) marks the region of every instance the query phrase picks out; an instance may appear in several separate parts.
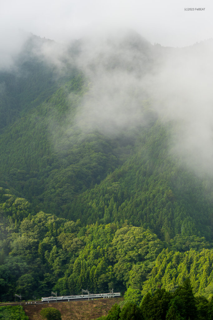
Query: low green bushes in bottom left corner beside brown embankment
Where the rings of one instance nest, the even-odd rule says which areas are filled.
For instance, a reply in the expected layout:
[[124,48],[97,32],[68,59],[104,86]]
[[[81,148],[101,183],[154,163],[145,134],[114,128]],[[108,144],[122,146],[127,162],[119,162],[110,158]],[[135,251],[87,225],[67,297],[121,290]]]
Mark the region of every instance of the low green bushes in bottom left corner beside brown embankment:
[[29,320],[23,307],[21,306],[4,306],[0,307],[0,319],[2,320]]

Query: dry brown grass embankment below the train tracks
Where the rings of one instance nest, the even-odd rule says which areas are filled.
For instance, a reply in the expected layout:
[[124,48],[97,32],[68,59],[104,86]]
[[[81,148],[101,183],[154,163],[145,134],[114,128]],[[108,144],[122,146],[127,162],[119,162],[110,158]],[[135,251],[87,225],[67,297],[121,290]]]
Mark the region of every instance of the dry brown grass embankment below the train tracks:
[[23,308],[29,320],[42,320],[40,311],[47,307],[57,308],[61,312],[62,320],[89,320],[107,315],[112,305],[119,303],[121,299],[54,302],[43,305],[24,305]]

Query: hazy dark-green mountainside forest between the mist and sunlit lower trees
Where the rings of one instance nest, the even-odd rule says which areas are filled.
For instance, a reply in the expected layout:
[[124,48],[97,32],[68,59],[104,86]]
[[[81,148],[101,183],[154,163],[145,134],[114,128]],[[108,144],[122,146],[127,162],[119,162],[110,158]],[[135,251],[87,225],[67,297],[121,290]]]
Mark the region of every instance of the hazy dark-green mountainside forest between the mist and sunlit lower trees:
[[[36,45],[42,41],[37,39]],[[11,102],[18,111],[0,137],[4,186],[15,188],[36,211],[84,224],[118,221],[121,226],[127,220],[168,243],[174,239],[178,250],[198,250],[205,245],[204,238],[197,242],[200,235],[211,240],[211,181],[195,177],[171,156],[172,127],[156,121],[155,115],[147,119],[148,101],[141,102],[146,126],[114,135],[83,130],[79,113],[90,90],[88,80],[72,66],[67,66],[69,76],[57,75],[42,59],[26,60],[27,55],[19,61],[19,81],[2,75],[5,99],[10,92],[11,101],[19,105]],[[5,110],[3,122],[10,118],[10,108]],[[191,244],[184,244],[186,236],[195,236]]]

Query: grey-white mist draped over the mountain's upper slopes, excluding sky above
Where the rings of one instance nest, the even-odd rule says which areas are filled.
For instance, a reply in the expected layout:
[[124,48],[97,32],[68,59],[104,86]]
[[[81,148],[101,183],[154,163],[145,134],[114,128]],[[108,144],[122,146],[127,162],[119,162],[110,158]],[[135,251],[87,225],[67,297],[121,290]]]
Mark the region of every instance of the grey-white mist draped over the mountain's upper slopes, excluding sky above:
[[[30,37],[22,34],[19,45],[8,47],[11,54],[2,60],[2,70],[12,70],[14,57]],[[197,173],[212,172],[212,40],[184,48],[164,47],[119,28],[68,43],[34,37],[31,49],[33,56],[56,68],[56,78],[66,74],[67,65],[84,75],[88,89],[75,116],[80,130],[117,135],[147,125],[148,100],[163,123],[173,123],[171,154]],[[4,91],[4,83],[0,89]],[[69,99],[72,104],[76,97]],[[66,136],[71,125],[68,116],[62,128]]]

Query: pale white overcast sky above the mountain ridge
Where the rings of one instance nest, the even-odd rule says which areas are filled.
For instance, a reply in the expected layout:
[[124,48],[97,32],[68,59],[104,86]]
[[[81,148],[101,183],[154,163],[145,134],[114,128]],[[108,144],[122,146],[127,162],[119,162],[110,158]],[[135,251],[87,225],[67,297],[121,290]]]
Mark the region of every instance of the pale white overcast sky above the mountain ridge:
[[[205,11],[185,11],[185,7]],[[213,37],[213,2],[0,0],[0,40],[8,40],[14,29],[65,41],[111,27],[132,28],[153,44],[190,45]]]

